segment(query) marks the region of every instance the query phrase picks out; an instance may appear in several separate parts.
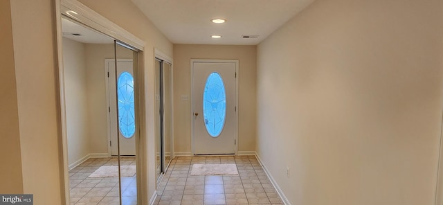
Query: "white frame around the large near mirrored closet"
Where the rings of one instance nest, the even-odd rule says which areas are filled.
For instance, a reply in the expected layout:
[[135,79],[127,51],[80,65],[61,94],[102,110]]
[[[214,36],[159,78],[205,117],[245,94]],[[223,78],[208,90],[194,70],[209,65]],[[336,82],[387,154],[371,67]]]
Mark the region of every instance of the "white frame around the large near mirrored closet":
[[[137,79],[137,90],[138,92],[138,118],[136,119],[138,125],[146,125],[146,103],[145,103],[145,89],[146,89],[146,80],[145,80],[145,66],[144,66],[144,49],[145,42],[143,40],[138,39],[135,35],[127,32],[127,30],[121,28],[117,24],[114,24],[109,19],[102,17],[97,12],[91,10],[87,6],[84,6],[82,3],[76,0],[56,0],[55,1],[55,24],[56,24],[56,33],[57,33],[57,57],[58,57],[58,77],[59,77],[59,97],[60,97],[60,107],[59,107],[59,118],[60,118],[60,134],[62,139],[60,141],[60,148],[62,148],[62,185],[64,187],[64,197],[62,200],[64,204],[71,204],[70,198],[70,190],[69,190],[69,168],[68,168],[68,146],[67,146],[67,132],[66,132],[66,107],[65,107],[65,96],[64,96],[64,66],[63,66],[63,53],[62,53],[62,16],[68,17],[69,19],[73,19],[73,21],[77,21],[80,24],[84,24],[89,28],[93,28],[100,33],[108,35],[109,37],[113,37],[116,39],[118,44],[121,46],[125,46],[131,50],[137,51],[137,62],[134,62],[138,66],[137,73],[134,73],[134,78]],[[136,172],[137,175],[141,177],[137,177],[137,202],[138,204],[150,204],[150,196],[141,193],[147,193],[148,191],[148,181],[147,181],[147,130],[145,126],[138,126],[138,132],[140,138],[136,141]]]

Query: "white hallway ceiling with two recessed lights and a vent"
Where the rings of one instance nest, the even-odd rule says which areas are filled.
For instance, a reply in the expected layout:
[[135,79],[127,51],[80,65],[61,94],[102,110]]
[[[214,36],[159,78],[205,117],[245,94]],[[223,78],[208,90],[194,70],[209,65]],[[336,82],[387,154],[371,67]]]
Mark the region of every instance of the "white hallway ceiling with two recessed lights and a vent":
[[[256,45],[314,0],[132,1],[174,44]],[[215,18],[226,23],[210,22]]]

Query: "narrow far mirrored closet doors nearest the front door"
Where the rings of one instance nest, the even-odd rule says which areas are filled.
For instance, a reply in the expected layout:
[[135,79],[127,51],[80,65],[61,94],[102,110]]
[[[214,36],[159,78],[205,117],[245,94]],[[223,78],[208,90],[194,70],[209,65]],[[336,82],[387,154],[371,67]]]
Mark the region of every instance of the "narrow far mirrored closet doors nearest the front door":
[[156,176],[166,172],[172,160],[172,66],[159,58],[156,73]]

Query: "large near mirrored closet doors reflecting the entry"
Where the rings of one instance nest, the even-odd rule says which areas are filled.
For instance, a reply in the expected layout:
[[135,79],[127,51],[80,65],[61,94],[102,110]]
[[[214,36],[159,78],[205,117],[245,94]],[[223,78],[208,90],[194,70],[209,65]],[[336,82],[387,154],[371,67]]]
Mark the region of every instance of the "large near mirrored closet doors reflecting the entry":
[[71,204],[137,204],[137,53],[62,16]]

